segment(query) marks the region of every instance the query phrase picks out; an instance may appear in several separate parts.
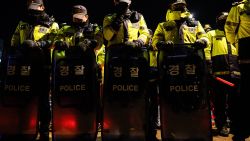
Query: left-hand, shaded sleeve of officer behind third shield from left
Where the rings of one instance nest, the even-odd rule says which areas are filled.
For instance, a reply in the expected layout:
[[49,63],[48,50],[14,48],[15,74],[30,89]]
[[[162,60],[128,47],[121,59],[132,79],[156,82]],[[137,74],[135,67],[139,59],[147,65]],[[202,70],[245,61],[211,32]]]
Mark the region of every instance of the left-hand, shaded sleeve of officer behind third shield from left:
[[116,31],[111,28],[112,16],[105,16],[103,20],[103,36],[104,39],[110,41],[116,34]]

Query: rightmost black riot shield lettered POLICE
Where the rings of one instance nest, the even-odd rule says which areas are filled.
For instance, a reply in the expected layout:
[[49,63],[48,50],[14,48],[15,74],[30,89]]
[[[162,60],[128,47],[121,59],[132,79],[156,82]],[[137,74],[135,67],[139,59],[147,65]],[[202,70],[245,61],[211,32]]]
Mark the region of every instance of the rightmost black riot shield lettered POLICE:
[[203,49],[178,44],[158,55],[162,140],[211,141]]

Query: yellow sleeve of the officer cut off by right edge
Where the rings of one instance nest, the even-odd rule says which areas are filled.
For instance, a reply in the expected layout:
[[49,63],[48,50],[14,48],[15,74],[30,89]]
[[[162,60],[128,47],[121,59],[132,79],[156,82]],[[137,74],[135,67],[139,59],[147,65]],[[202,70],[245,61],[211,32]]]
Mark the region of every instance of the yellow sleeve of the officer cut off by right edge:
[[231,44],[235,43],[236,41],[235,32],[239,25],[239,21],[240,21],[239,17],[240,15],[239,15],[238,6],[233,6],[228,13],[228,17],[227,17],[226,24],[225,24],[226,38]]

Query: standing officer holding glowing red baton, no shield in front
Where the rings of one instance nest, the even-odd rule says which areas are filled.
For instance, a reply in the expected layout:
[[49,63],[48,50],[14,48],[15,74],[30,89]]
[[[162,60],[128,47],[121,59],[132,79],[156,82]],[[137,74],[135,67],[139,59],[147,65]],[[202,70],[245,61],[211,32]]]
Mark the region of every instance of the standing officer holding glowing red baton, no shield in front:
[[234,124],[232,116],[235,115],[235,110],[237,110],[237,105],[234,104],[238,97],[240,79],[237,49],[226,40],[224,32],[227,16],[227,12],[221,12],[216,17],[217,28],[207,33],[210,43],[205,48],[206,60],[210,67],[211,75],[235,84],[234,87],[230,87],[218,81],[212,81],[211,83],[215,124],[217,133],[221,136],[228,136],[229,134],[227,118]]

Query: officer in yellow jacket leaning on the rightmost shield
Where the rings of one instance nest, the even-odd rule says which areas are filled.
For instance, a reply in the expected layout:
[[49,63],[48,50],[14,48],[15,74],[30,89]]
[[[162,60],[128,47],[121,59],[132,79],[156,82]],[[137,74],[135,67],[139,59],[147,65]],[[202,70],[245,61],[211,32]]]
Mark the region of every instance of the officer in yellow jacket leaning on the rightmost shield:
[[199,21],[190,17],[185,0],[176,0],[170,4],[166,21],[158,24],[152,39],[154,48],[176,43],[195,43],[206,47],[208,39]]

